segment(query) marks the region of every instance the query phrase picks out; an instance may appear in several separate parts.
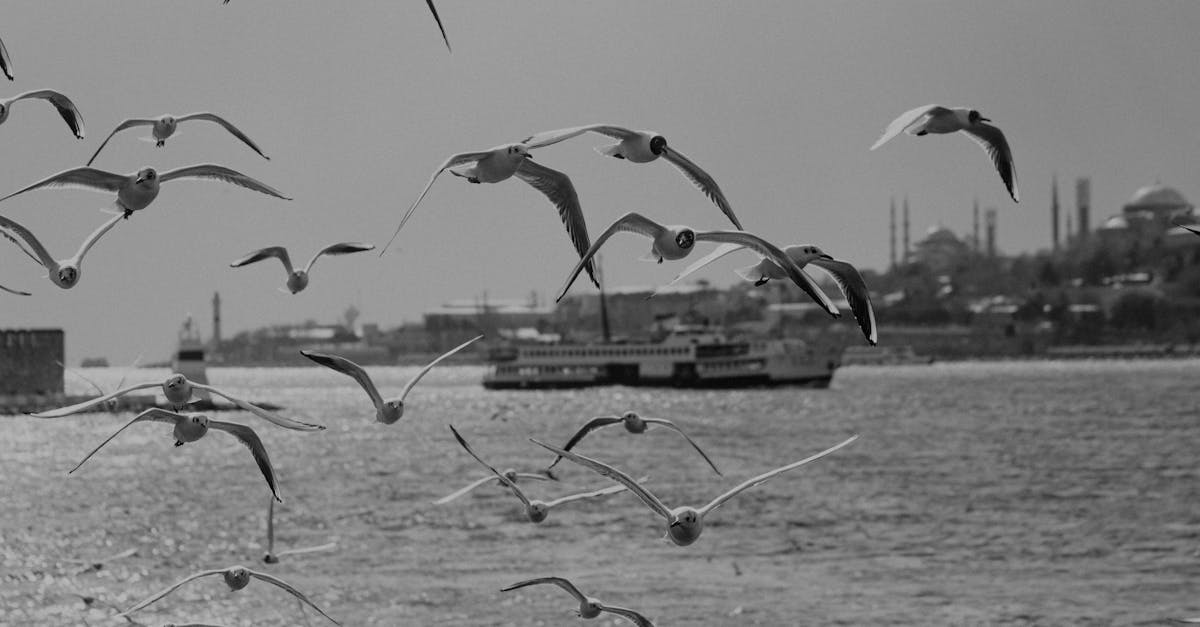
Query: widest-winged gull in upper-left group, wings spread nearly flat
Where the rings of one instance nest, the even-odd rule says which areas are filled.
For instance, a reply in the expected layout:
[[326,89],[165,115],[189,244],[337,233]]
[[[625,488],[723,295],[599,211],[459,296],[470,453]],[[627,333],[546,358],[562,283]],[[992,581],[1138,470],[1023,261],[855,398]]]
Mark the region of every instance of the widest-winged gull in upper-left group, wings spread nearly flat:
[[162,174],[154,168],[142,168],[132,174],[115,174],[90,167],[71,168],[40,180],[29,187],[17,190],[0,198],[0,201],[7,201],[18,193],[25,193],[41,187],[83,187],[102,192],[115,192],[116,208],[125,217],[128,217],[133,211],[145,209],[146,205],[154,202],[158,196],[160,184],[175,179],[223,180],[233,185],[263,192],[268,196],[283,198],[284,201],[292,199],[283,196],[275,187],[259,183],[240,172],[215,163],[199,163],[169,169]]

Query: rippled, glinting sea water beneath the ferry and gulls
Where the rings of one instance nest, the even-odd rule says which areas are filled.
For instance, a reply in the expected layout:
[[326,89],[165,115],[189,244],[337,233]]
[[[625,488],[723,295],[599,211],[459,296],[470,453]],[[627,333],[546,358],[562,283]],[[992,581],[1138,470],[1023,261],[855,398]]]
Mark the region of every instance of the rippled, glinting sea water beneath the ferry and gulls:
[[[396,394],[415,368],[376,368]],[[372,422],[352,380],[324,369],[212,369],[230,393],[286,406],[328,431],[284,431],[242,412],[280,477],[277,549],[334,551],[264,565],[269,491],[224,434],[172,446],[138,424],[66,471],[130,414],[4,417],[0,623],[125,625],[126,608],[194,571],[242,563],[286,579],[343,625],[575,625],[565,592],[500,587],[541,575],[671,625],[1129,625],[1200,615],[1200,360],[956,363],[847,368],[828,390],[595,388],[488,392],[481,368],[433,370],[401,422]],[[127,372],[89,370],[112,389]],[[166,377],[137,370],[130,382]],[[68,376],[68,392],[89,387]],[[493,466],[535,470],[602,413],[671,418],[677,435],[619,426],[577,448],[668,506],[851,434],[850,447],[733,498],[690,547],[629,494],[572,503],[534,525],[488,485],[431,502]],[[550,497],[608,485],[564,461]],[[101,569],[84,562],[126,549]],[[134,615],[150,625],[319,625],[262,581],[191,583]],[[629,625],[605,615],[584,625]]]

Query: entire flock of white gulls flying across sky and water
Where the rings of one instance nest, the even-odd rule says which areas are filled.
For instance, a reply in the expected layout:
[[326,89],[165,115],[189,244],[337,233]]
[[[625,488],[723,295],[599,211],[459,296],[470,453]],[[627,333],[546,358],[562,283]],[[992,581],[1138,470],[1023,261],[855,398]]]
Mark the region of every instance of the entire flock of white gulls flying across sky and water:
[[[228,0],[226,0],[226,2],[228,2]],[[426,0],[426,5],[437,20],[446,48],[450,49],[450,42],[449,38],[446,38],[445,29],[442,25],[437,8],[433,6],[432,0]],[[12,60],[2,41],[0,41],[0,70],[4,71],[5,76],[10,80],[13,79]],[[78,107],[76,107],[74,102],[66,95],[50,89],[26,91],[11,98],[0,100],[0,124],[8,119],[12,104],[23,100],[44,100],[49,102],[66,121],[71,132],[80,139],[84,137],[84,123]],[[114,215],[96,228],[96,231],[94,231],[83,241],[73,256],[56,259],[49,253],[46,246],[42,245],[32,232],[23,227],[13,219],[2,215],[0,215],[0,235],[4,235],[6,239],[12,241],[35,263],[44,268],[48,273],[49,280],[54,285],[61,288],[71,288],[77,285],[80,279],[80,265],[83,263],[83,257],[88,253],[88,251],[91,250],[91,247],[95,246],[96,243],[118,223],[128,220],[134,213],[148,208],[158,196],[160,186],[163,183],[190,178],[211,179],[246,187],[276,198],[290,199],[282,192],[264,183],[215,163],[187,166],[161,173],[155,168],[146,167],[128,174],[113,173],[91,167],[91,163],[98,157],[100,153],[104,149],[108,142],[124,130],[149,126],[151,136],[148,139],[155,142],[157,147],[163,147],[166,141],[174,135],[176,126],[180,123],[193,120],[214,123],[232,133],[258,155],[263,156],[263,159],[270,159],[246,133],[239,130],[233,123],[215,113],[197,112],[186,115],[168,114],[158,118],[130,118],[113,129],[100,147],[97,147],[85,166],[59,172],[0,198],[0,202],[2,202],[29,191],[64,186],[77,186],[115,195]],[[905,112],[892,121],[880,139],[871,147],[871,150],[878,148],[901,132],[920,137],[926,135],[944,135],[961,131],[984,148],[994,162],[996,171],[1008,190],[1008,193],[1012,196],[1013,201],[1016,202],[1016,174],[1013,168],[1012,151],[1004,135],[1000,131],[1000,129],[989,124],[989,121],[990,120],[983,118],[978,111],[971,108],[947,108],[937,104],[918,107]],[[552,144],[565,142],[586,133],[596,133],[617,141],[617,143],[613,144],[598,147],[596,151],[601,155],[626,160],[632,163],[649,163],[661,157],[666,162],[671,163],[684,175],[684,178],[698,187],[700,191],[703,192],[704,196],[707,196],[709,201],[712,201],[713,204],[721,210],[725,217],[732,223],[733,228],[697,231],[692,227],[683,225],[662,225],[641,214],[630,213],[612,222],[594,241],[590,240],[580,198],[570,177],[565,173],[535,162],[532,154],[534,150],[540,150]],[[769,280],[791,280],[829,316],[840,316],[836,304],[822,291],[817,282],[804,271],[805,267],[811,264],[827,271],[838,283],[866,341],[875,345],[878,340],[875,312],[871,306],[866,283],[851,263],[839,261],[827,255],[815,245],[788,245],[781,247],[760,235],[744,231],[742,222],[734,214],[732,204],[721,191],[716,180],[691,159],[677,150],[673,145],[670,145],[666,138],[658,132],[631,130],[611,124],[592,124],[535,133],[520,142],[498,145],[487,150],[455,154],[438,166],[432,177],[430,177],[428,183],[421,190],[416,201],[413,202],[408,211],[401,219],[400,225],[396,227],[396,231],[388,245],[396,239],[401,229],[413,216],[418,205],[420,205],[421,201],[433,186],[433,183],[443,172],[446,171],[473,184],[500,183],[515,177],[524,183],[528,183],[530,186],[546,196],[547,199],[550,199],[550,202],[558,210],[559,217],[566,228],[568,237],[571,240],[571,245],[580,256],[578,262],[568,275],[563,287],[560,288],[558,299],[562,299],[563,295],[566,294],[574,281],[584,270],[588,273],[592,282],[599,287],[600,283],[595,274],[593,259],[605,241],[618,232],[636,233],[649,238],[650,251],[646,258],[659,263],[664,259],[674,261],[685,258],[692,252],[696,243],[713,241],[720,245],[708,256],[694,262],[690,267],[682,271],[674,281],[690,275],[725,255],[742,249],[749,249],[750,251],[757,253],[760,259],[750,267],[736,270],[739,276],[745,280],[754,281],[756,285],[762,285]],[[383,255],[386,251],[388,245],[383,247],[379,255]],[[287,291],[296,293],[302,291],[308,285],[308,275],[312,265],[322,256],[347,255],[372,249],[374,249],[374,246],[366,243],[331,244],[313,255],[304,268],[295,268],[292,264],[287,249],[283,246],[266,246],[235,259],[230,263],[230,265],[233,268],[239,268],[269,257],[275,257],[282,262],[284,270],[287,271]],[[28,292],[4,286],[0,286],[0,289],[13,294],[30,295]],[[302,354],[322,366],[341,372],[356,381],[366,392],[372,406],[374,407],[376,420],[383,424],[392,424],[403,416],[404,399],[408,396],[409,392],[434,365],[458,351],[467,348],[480,338],[468,340],[427,364],[404,386],[398,396],[390,399],[385,399],[383,396],[364,368],[350,362],[349,359],[335,354],[311,351],[302,351]],[[100,449],[102,449],[108,442],[136,423],[157,422],[170,424],[176,447],[196,442],[203,438],[210,430],[229,434],[250,449],[250,453],[258,465],[258,468],[266,480],[271,492],[268,514],[268,553],[263,561],[266,563],[276,563],[278,557],[286,555],[288,551],[274,551],[274,506],[276,501],[282,502],[282,497],[280,496],[275,470],[271,465],[270,456],[268,455],[263,441],[258,437],[257,432],[247,425],[212,420],[203,413],[187,412],[187,406],[193,401],[197,392],[206,392],[223,396],[250,414],[283,429],[319,431],[324,430],[324,426],[280,416],[274,411],[253,405],[215,387],[192,382],[180,374],[173,374],[164,381],[150,381],[127,386],[110,394],[102,394],[84,402],[68,407],[37,412],[31,416],[37,418],[60,418],[83,412],[103,411],[112,407],[112,404],[125,394],[151,388],[157,388],[162,392],[170,404],[172,410],[150,408],[138,413],[133,417],[133,419],[118,429],[112,436],[101,442],[100,446],[84,456],[84,459],[70,472],[73,473],[79,470],[84,462],[91,459],[91,456],[100,452]],[[618,470],[607,462],[581,455],[572,450],[576,444],[578,444],[593,431],[602,429],[604,426],[618,424],[623,425],[631,434],[644,432],[647,428],[652,425],[673,430],[678,432],[704,459],[709,467],[712,467],[713,472],[721,474],[713,460],[709,459],[701,447],[674,423],[661,418],[643,418],[636,412],[626,412],[622,416],[595,417],[583,424],[562,447],[530,438],[533,443],[556,455],[554,461],[540,473],[520,473],[511,468],[504,472],[498,471],[496,467],[484,461],[484,459],[480,458],[467,443],[467,440],[463,438],[458,430],[451,425],[450,430],[457,443],[481,466],[484,466],[487,470],[487,473],[484,477],[473,480],[464,488],[439,498],[436,503],[449,503],[481,485],[498,482],[500,485],[511,491],[518,501],[521,501],[529,521],[541,522],[546,519],[551,509],[559,506],[580,500],[599,498],[622,491],[630,491],[636,495],[638,500],[641,500],[646,507],[650,509],[650,512],[665,520],[666,537],[668,537],[677,545],[686,547],[695,543],[700,538],[701,532],[703,531],[704,516],[712,514],[728,500],[733,498],[744,490],[760,485],[781,473],[792,471],[829,455],[850,444],[858,437],[857,435],[852,436],[846,441],[827,448],[815,455],[779,466],[774,470],[746,479],[703,506],[679,506],[672,508],[646,488],[648,482],[647,477],[635,479],[626,472]],[[553,501],[540,501],[527,496],[526,489],[520,486],[518,482],[557,480],[558,478],[553,474],[552,468],[564,458],[571,462],[582,465],[614,483],[608,486],[592,489],[589,491],[574,494]],[[324,550],[331,547],[332,545],[323,545],[310,549],[296,549],[292,553]],[[132,622],[132,619],[128,617],[130,614],[158,602],[160,599],[169,596],[173,591],[196,579],[210,575],[221,575],[230,590],[241,590],[246,587],[251,579],[263,580],[287,591],[299,599],[300,603],[312,607],[322,616],[329,619],[334,623],[338,623],[334,617],[326,614],[304,592],[293,585],[271,574],[256,572],[242,566],[208,569],[188,575],[166,590],[130,607],[128,609],[125,609],[120,613],[120,615]],[[506,586],[503,590],[510,591],[540,584],[556,585],[570,593],[580,603],[578,615],[581,617],[590,619],[600,615],[601,613],[611,613],[628,619],[638,626],[652,625],[652,622],[641,613],[626,608],[607,605],[595,598],[588,597],[571,581],[560,577],[540,577],[522,580]],[[85,602],[88,599],[85,598]]]

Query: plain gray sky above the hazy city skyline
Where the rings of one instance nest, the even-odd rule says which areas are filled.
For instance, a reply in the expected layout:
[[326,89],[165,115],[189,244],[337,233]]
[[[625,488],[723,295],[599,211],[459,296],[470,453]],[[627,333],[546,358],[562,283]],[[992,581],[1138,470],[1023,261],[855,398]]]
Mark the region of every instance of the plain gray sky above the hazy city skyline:
[[[211,111],[246,131],[265,161],[218,127],[181,125],[167,147],[115,137],[95,166],[128,173],[221,163],[295,198],[216,181],[173,181],[85,258],[78,286],[53,286],[0,245],[0,327],[62,327],[71,363],[166,358],[192,312],[210,333],[220,291],[227,335],[269,322],[334,321],[347,305],[384,327],[485,291],[553,298],[577,259],[554,209],[518,180],[444,175],[386,256],[325,258],[296,295],[283,271],[240,255],[286,245],[304,262],[341,240],[382,246],[449,155],[588,123],[652,129],[713,174],[749,231],[817,244],[860,267],[887,264],[888,198],[908,195],[913,239],[971,228],[971,203],[1000,209],[1006,252],[1049,245],[1050,177],[1064,205],[1092,178],[1092,222],[1160,180],[1200,198],[1200,4],[1016,1],[463,1],[438,0],[448,54],[424,2],[162,0],[12,2],[0,38],[17,80],[0,95],[54,88],[86,123],[77,141],[53,108],[20,102],[0,126],[8,193],[82,166],[121,120]],[[964,137],[868,147],[899,113],[972,106],[1008,136],[1022,202]],[[589,232],[625,211],[728,228],[662,162],[602,157],[584,136],[536,159],[570,174]],[[44,190],[0,203],[55,257],[107,219],[110,198]],[[670,281],[685,262],[636,261],[648,241],[610,240],[610,285]],[[731,283],[744,259],[697,277]],[[584,281],[574,291],[594,289]],[[886,321],[882,321],[886,323]]]

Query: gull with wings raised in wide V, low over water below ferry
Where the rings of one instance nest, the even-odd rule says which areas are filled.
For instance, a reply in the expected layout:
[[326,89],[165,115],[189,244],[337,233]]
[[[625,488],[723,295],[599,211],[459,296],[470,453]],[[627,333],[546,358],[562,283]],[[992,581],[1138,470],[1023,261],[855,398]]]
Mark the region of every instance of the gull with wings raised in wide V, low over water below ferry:
[[674,509],[671,509],[662,501],[660,501],[658,496],[654,496],[649,490],[638,485],[638,483],[629,474],[625,474],[624,472],[602,461],[598,461],[592,458],[580,455],[577,453],[571,453],[570,450],[563,450],[558,447],[552,447],[550,444],[545,444],[542,442],[530,438],[533,443],[542,448],[550,449],[552,453],[562,455],[576,464],[582,464],[583,466],[587,466],[594,470],[595,472],[599,472],[600,474],[604,474],[605,477],[608,477],[610,479],[620,483],[625,488],[629,488],[629,490],[636,494],[637,497],[641,498],[642,502],[650,508],[650,510],[653,510],[655,514],[659,514],[660,516],[667,520],[667,536],[671,537],[671,542],[674,542],[679,547],[686,547],[696,542],[696,539],[700,538],[700,533],[704,530],[704,515],[716,509],[718,507],[721,507],[722,503],[725,503],[730,498],[733,498],[743,490],[764,483],[768,479],[775,477],[776,474],[782,474],[790,470],[798,468],[810,461],[821,459],[833,453],[834,450],[838,450],[839,448],[853,442],[854,440],[858,440],[857,435],[851,436],[845,442],[834,446],[832,448],[827,448],[821,453],[817,453],[816,455],[804,458],[800,461],[793,461],[792,464],[788,464],[786,466],[780,466],[773,471],[768,471],[751,479],[746,479],[745,482],[742,482],[740,484],[734,486],[732,490],[718,496],[716,498],[713,498],[708,504],[703,507],[696,508],[690,506],[680,506],[676,507]]

